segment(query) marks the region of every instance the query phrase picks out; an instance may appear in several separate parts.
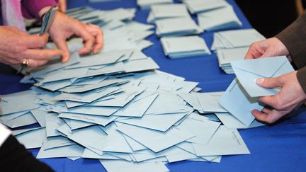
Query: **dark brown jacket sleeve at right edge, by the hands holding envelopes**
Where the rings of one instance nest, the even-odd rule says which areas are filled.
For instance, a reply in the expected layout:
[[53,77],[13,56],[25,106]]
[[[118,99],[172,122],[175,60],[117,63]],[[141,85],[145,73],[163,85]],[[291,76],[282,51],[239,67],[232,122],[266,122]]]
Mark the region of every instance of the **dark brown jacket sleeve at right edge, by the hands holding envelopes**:
[[288,28],[276,35],[276,38],[288,48],[298,68],[297,79],[306,93],[306,11]]

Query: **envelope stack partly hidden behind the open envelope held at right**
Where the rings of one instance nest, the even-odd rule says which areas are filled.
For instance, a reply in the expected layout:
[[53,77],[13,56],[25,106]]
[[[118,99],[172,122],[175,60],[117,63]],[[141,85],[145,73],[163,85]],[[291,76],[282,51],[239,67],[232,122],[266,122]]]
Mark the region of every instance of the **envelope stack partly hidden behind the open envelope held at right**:
[[227,74],[234,74],[231,62],[244,59],[249,47],[219,49],[216,51],[219,67]]

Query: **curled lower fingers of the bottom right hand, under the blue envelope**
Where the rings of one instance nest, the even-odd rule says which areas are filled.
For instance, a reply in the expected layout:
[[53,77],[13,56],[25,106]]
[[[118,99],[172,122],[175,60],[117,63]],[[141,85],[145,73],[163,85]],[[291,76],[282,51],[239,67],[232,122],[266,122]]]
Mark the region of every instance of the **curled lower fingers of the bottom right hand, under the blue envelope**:
[[251,113],[256,117],[257,120],[267,122],[269,124],[276,122],[285,115],[284,112],[278,110],[271,110],[270,113],[262,113],[259,110],[252,110]]

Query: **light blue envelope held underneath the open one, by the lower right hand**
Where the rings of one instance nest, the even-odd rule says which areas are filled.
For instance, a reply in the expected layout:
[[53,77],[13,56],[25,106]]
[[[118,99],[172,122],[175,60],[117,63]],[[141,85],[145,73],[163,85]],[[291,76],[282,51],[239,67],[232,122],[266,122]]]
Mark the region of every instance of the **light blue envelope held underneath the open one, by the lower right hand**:
[[232,81],[219,103],[246,126],[249,126],[255,119],[251,110],[262,110],[263,108],[259,105],[257,98],[249,97],[238,79]]

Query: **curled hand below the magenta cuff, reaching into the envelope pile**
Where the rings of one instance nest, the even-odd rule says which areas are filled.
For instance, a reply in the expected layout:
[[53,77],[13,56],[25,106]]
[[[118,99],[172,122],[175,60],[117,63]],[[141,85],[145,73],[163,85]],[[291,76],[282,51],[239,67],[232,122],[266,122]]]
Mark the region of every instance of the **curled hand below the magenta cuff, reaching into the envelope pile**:
[[79,50],[79,54],[81,55],[91,51],[96,54],[103,47],[103,33],[98,26],[86,25],[61,12],[56,13],[49,33],[57,48],[63,51],[62,62],[69,60],[70,53],[66,40],[72,35],[77,35],[84,41],[84,47]]

